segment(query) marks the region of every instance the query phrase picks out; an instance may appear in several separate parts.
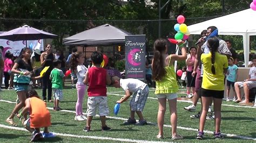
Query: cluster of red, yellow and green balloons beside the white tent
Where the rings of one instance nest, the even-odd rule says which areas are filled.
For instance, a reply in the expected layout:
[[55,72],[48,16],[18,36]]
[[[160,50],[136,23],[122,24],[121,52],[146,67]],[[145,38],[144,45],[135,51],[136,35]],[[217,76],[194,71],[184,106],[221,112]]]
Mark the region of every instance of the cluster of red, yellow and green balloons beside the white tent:
[[185,17],[182,15],[179,15],[177,17],[177,24],[174,25],[174,30],[177,31],[177,33],[174,35],[174,38],[176,40],[187,40],[188,36],[190,35],[190,31],[188,31],[187,25],[184,24]]

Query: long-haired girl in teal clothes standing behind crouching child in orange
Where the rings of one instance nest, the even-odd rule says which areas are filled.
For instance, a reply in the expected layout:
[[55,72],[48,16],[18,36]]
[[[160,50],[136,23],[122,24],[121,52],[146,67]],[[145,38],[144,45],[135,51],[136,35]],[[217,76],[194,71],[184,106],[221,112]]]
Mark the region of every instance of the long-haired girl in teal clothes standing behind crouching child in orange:
[[28,91],[29,83],[31,80],[32,66],[30,62],[31,51],[29,48],[23,48],[19,58],[15,61],[11,72],[14,73],[14,89],[17,92],[17,104],[10,116],[6,119],[6,122],[12,126],[17,126],[14,122],[14,114],[18,113],[20,109],[25,105],[26,92]]

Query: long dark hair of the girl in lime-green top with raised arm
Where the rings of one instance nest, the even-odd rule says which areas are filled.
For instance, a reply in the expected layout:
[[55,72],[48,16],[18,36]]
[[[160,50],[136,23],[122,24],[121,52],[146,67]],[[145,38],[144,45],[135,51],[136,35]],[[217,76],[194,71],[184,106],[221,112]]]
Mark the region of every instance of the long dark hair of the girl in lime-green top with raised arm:
[[155,81],[161,80],[161,78],[166,74],[164,68],[163,57],[161,52],[164,52],[166,49],[167,41],[165,39],[159,38],[154,41],[154,61],[152,65],[152,78]]

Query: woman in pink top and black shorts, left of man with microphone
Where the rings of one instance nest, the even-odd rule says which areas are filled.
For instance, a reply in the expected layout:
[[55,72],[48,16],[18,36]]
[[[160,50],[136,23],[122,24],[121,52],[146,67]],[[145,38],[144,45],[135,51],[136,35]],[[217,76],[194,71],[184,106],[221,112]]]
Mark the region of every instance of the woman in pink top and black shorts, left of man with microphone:
[[[194,60],[196,60],[196,47],[190,47],[190,53],[187,55],[186,65],[187,65],[187,98],[192,98],[194,95],[194,82],[196,78],[192,77]],[[190,94],[190,89],[192,88],[192,94]]]

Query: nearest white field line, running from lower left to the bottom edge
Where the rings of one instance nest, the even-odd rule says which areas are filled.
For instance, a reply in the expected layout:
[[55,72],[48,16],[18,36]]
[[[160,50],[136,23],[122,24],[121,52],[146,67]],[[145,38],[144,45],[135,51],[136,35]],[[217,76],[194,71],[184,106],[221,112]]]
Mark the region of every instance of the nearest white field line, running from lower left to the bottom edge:
[[[27,131],[25,128],[6,126],[3,124],[0,124],[0,127],[8,128],[11,130]],[[98,137],[98,136],[90,136],[90,135],[75,135],[75,134],[55,133],[55,132],[52,132],[52,133],[55,135],[63,136],[63,137],[88,138],[88,139],[96,139],[96,140],[114,140],[114,141],[124,141],[124,142],[160,142],[160,141],[151,141],[151,140],[134,140],[134,139]]]

